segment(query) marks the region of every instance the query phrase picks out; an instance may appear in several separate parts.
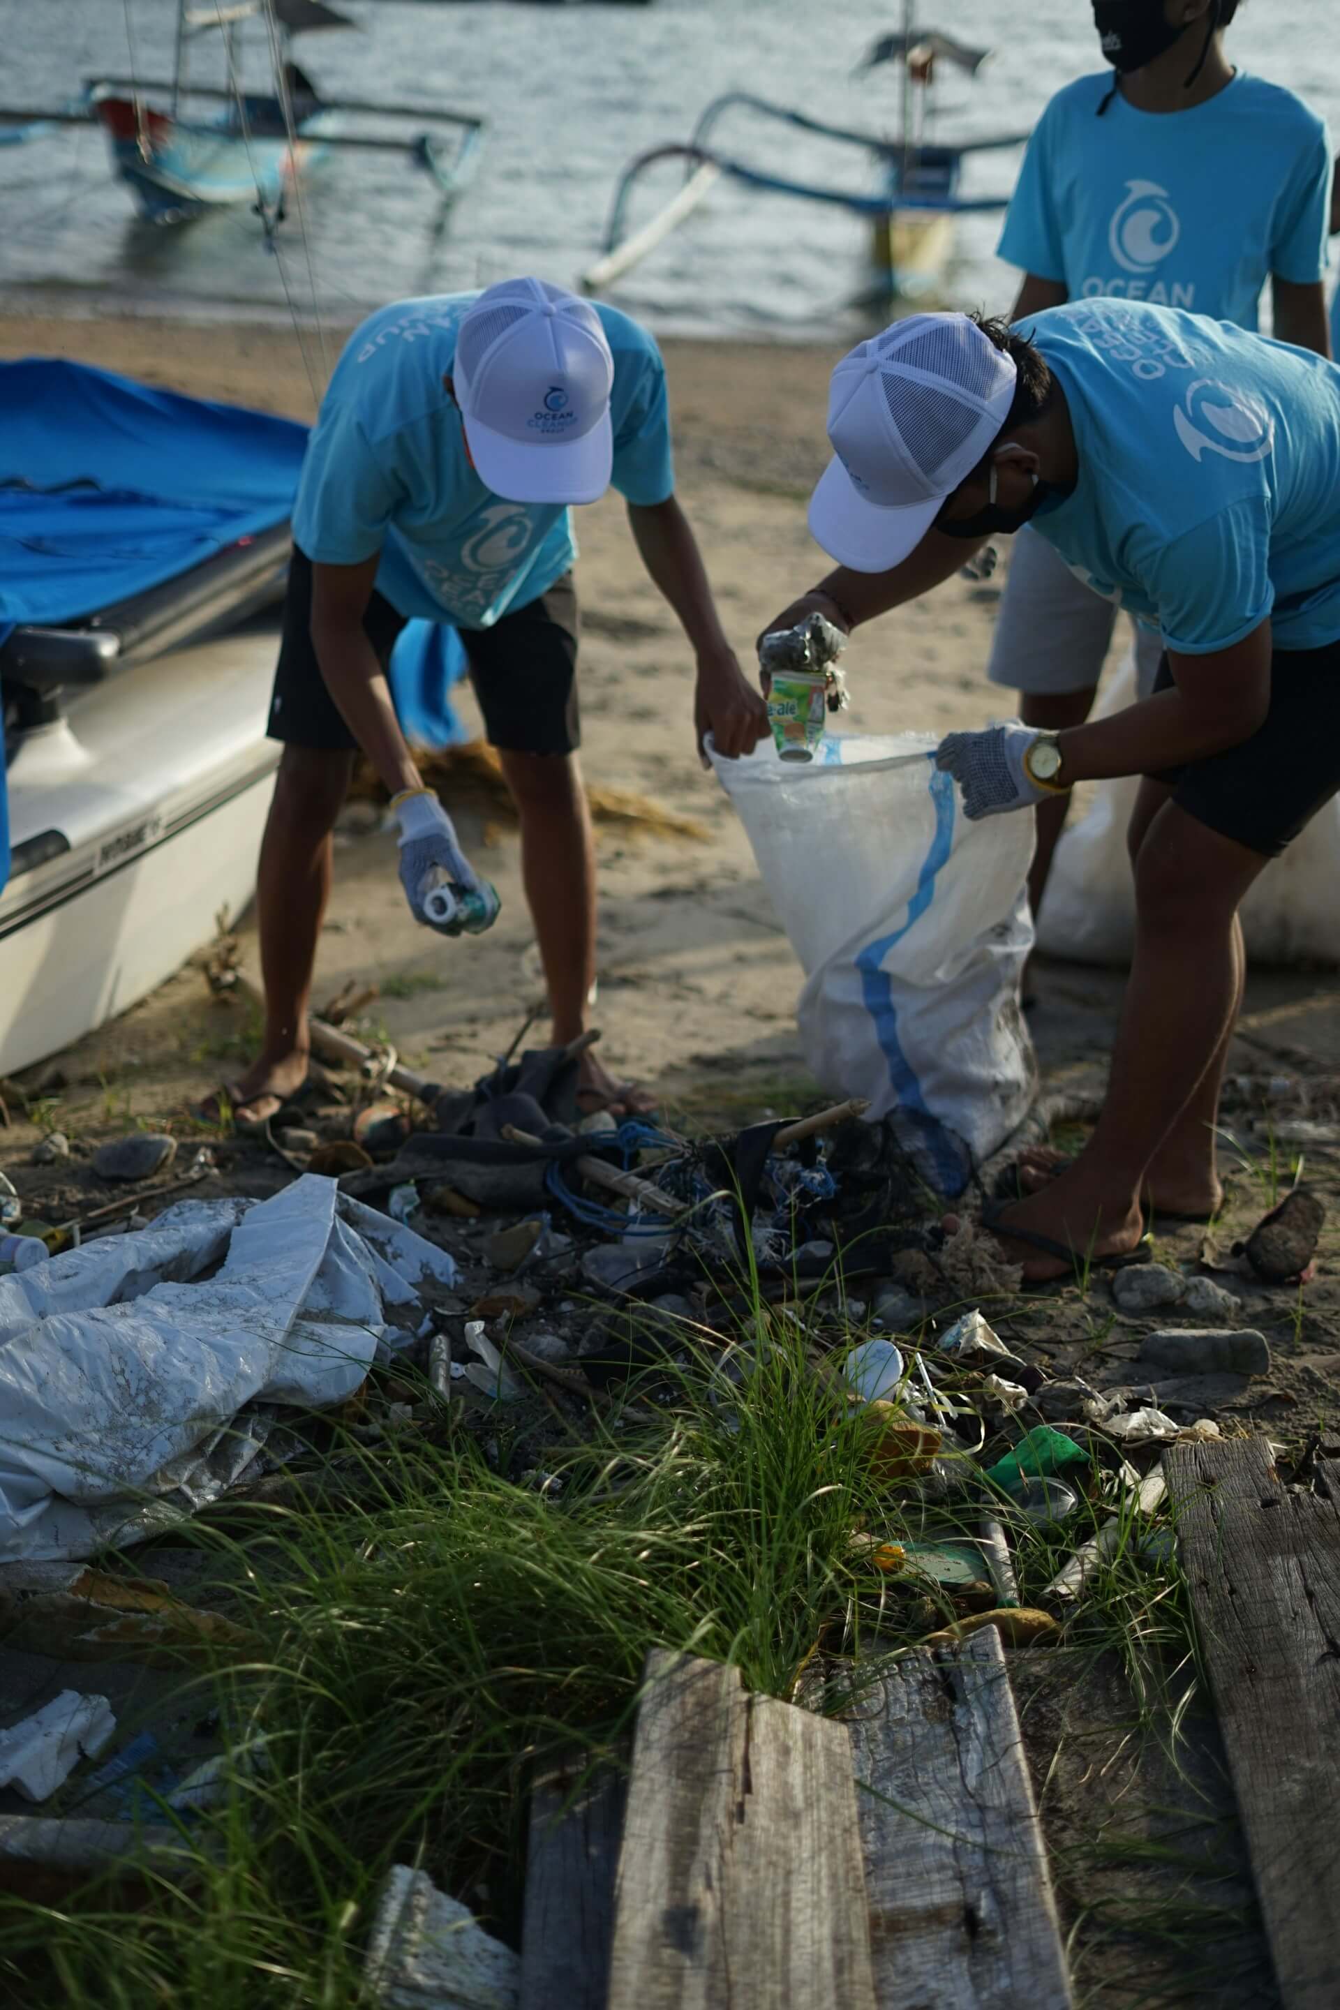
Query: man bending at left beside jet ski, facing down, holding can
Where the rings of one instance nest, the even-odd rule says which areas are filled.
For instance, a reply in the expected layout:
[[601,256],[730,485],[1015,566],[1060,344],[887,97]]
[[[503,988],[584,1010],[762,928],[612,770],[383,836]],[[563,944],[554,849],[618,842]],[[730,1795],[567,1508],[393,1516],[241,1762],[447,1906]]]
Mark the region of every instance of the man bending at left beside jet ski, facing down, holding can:
[[[577,559],[571,505],[615,486],[657,589],[697,659],[695,734],[749,752],[767,710],[743,677],[675,500],[665,368],[615,308],[540,279],[406,299],[350,340],[321,402],[293,509],[293,563],[269,710],[283,742],[261,842],[265,1035],[227,1089],[243,1128],[307,1075],[307,999],[329,892],[331,830],[362,748],[400,824],[416,921],[456,935],[496,915],[396,720],[388,663],[410,619],[464,641],[490,744],[520,818],[526,898],[554,1045],[595,987],[595,850],[577,766]],[[444,892],[446,888],[446,892]],[[587,1110],[653,1097],[581,1057]]]

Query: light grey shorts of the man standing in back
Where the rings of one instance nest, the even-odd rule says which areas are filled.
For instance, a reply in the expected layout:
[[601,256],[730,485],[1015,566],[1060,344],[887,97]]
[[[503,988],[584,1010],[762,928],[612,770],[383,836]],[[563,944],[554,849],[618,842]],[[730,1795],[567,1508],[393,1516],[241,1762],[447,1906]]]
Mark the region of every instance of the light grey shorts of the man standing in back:
[[[1117,607],[1069,569],[1055,545],[1027,527],[1015,539],[986,675],[1031,697],[1091,691],[1113,639]],[[1135,683],[1149,697],[1163,641],[1135,629]]]

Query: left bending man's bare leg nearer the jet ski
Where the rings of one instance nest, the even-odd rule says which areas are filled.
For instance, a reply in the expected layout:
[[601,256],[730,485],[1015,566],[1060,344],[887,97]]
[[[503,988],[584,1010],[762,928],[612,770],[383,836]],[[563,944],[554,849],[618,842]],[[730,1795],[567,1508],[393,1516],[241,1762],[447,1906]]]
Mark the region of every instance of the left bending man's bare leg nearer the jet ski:
[[352,768],[352,754],[325,748],[285,748],[279,762],[255,888],[265,1033],[237,1083],[237,1110],[253,1124],[271,1118],[307,1073],[307,1007],[329,900],[331,830]]

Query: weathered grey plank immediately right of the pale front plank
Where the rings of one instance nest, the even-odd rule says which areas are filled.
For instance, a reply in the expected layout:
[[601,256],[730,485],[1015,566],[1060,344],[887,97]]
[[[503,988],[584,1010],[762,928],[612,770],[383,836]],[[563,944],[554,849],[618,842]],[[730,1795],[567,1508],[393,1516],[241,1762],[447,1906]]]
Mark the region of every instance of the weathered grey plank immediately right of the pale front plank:
[[1000,1636],[892,1662],[848,1721],[878,2010],[1069,2010]]

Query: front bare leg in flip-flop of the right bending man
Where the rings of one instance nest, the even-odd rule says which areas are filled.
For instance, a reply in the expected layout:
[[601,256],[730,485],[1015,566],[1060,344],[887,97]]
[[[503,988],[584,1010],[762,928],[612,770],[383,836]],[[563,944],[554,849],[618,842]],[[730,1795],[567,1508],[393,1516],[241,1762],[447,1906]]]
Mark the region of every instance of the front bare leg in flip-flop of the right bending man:
[[[1135,961],[1113,1051],[1107,1103],[1075,1164],[1007,1214],[1069,1244],[1077,1258],[1133,1248],[1139,1196],[1175,1120],[1219,1063],[1240,1003],[1238,904],[1270,860],[1163,802],[1135,860]],[[1221,1065],[1221,1063],[1219,1063]],[[1213,1079],[1217,1093],[1217,1077]],[[1203,1146],[1201,1146],[1203,1150]],[[1011,1244],[1033,1280],[1065,1264]]]

